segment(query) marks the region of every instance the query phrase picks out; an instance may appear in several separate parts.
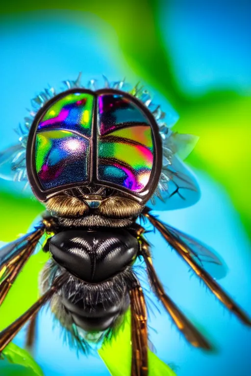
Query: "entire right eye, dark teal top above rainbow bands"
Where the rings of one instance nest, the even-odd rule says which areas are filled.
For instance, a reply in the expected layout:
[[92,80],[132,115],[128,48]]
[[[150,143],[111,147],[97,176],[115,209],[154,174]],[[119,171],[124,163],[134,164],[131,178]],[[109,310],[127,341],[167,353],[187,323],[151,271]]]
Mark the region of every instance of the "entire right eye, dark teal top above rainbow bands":
[[154,160],[150,120],[122,94],[100,94],[98,106],[98,179],[141,192]]

